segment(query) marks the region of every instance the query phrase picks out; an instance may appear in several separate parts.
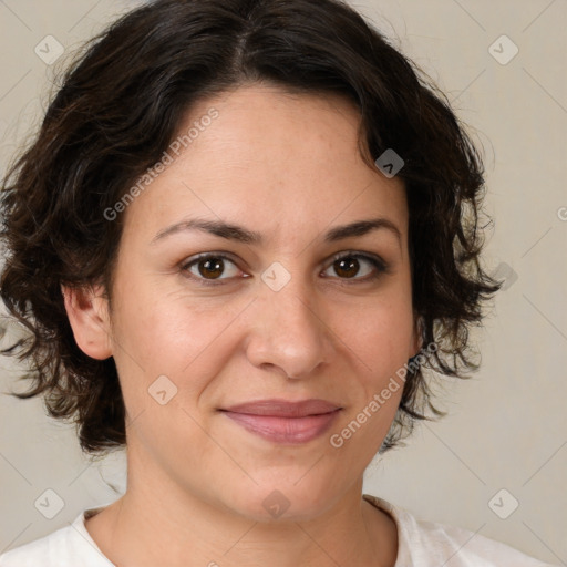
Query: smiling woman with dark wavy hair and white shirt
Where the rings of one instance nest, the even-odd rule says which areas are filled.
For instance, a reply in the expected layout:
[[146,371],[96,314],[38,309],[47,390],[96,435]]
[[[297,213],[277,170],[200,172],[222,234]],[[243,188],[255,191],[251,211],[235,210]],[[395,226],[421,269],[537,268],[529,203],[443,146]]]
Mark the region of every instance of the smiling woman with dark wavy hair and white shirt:
[[1,296],[50,413],[127,489],[2,567],[544,565],[362,495],[475,368],[482,164],[334,0],[157,0],[7,177]]

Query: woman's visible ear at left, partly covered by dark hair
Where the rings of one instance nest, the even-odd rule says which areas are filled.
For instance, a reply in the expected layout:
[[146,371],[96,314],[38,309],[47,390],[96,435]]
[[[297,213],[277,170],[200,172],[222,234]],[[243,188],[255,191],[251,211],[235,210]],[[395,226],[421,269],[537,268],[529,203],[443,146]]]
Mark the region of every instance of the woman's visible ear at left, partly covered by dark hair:
[[93,359],[112,357],[109,301],[104,288],[61,286],[61,292],[79,348]]

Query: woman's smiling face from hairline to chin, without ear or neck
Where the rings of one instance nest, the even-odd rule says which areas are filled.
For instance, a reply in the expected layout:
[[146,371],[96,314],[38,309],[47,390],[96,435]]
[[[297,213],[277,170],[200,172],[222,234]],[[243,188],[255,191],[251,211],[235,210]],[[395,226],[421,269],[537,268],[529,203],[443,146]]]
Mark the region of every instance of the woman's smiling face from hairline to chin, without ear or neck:
[[[109,332],[132,486],[301,519],[361,481],[419,343],[404,187],[363,163],[358,120],[334,96],[225,93],[127,206]],[[327,404],[279,403],[308,400]]]

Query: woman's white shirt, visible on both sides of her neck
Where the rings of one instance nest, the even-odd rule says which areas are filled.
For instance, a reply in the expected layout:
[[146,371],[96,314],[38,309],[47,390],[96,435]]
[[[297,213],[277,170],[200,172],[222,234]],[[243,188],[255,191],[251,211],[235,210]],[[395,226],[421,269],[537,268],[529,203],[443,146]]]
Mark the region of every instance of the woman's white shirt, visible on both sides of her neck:
[[[378,496],[363,497],[395,522],[399,545],[394,567],[553,567],[473,532],[416,519]],[[0,567],[115,567],[84,525],[85,515],[101,509],[84,511],[69,526],[1,555]]]

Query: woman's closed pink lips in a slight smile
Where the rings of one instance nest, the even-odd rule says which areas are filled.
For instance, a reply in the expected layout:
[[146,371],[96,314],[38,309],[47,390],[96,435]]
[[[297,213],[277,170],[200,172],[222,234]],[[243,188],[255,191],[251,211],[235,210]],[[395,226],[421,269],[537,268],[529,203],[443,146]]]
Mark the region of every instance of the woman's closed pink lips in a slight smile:
[[260,400],[221,411],[245,430],[268,441],[300,444],[322,435],[341,410],[326,400]]

